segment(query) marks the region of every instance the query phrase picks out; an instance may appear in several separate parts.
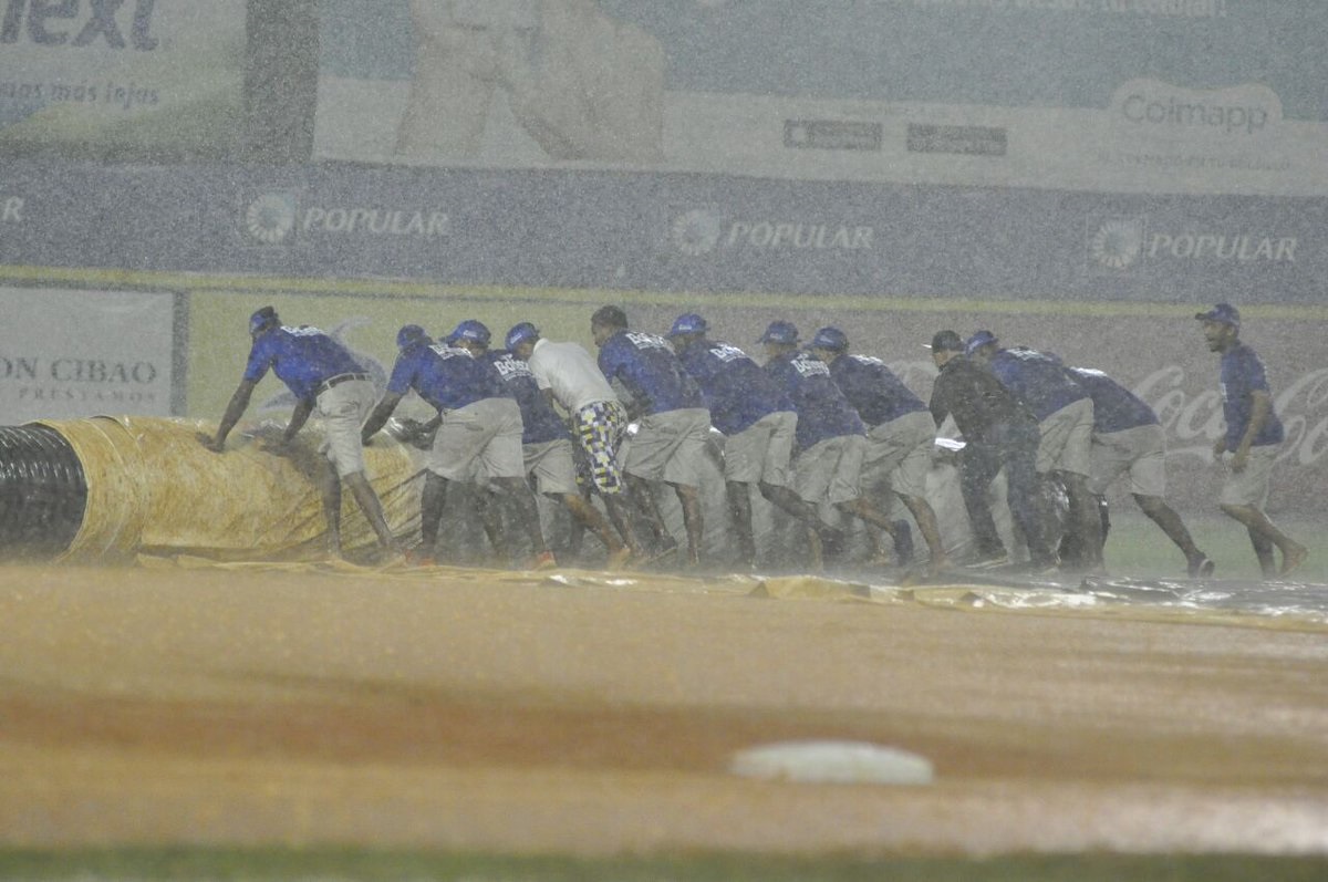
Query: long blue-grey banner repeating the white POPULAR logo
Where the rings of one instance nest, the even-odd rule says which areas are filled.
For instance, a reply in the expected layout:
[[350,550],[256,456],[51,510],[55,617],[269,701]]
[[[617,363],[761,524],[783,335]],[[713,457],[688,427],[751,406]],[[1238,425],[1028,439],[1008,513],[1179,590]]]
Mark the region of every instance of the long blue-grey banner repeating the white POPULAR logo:
[[1321,304],[1328,198],[610,171],[9,166],[0,263],[454,286]]

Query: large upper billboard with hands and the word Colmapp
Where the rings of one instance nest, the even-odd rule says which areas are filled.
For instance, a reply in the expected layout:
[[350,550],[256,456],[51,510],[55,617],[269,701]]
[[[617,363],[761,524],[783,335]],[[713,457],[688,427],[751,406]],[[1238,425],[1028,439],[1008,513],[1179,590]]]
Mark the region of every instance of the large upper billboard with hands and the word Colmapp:
[[324,0],[315,155],[1324,194],[1319,0]]

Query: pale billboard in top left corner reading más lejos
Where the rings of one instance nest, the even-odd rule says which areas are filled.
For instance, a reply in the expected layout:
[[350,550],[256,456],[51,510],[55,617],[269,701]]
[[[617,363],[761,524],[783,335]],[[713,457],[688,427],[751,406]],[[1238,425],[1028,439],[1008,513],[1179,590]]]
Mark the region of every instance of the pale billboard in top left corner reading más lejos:
[[5,0],[0,153],[227,158],[243,132],[246,0]]

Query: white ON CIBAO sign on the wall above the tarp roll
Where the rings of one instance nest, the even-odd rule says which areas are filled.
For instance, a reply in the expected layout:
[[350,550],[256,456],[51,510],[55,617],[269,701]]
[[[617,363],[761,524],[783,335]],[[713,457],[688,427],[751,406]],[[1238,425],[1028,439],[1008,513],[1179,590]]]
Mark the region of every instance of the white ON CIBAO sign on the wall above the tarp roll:
[[174,412],[174,295],[0,287],[0,425]]

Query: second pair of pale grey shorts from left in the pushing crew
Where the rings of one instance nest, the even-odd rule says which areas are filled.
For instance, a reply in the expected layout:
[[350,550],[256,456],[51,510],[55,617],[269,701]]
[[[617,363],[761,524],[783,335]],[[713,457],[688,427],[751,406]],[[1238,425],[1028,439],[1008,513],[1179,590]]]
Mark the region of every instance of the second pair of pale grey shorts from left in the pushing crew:
[[521,433],[514,398],[482,398],[448,410],[425,466],[449,481],[525,477]]

